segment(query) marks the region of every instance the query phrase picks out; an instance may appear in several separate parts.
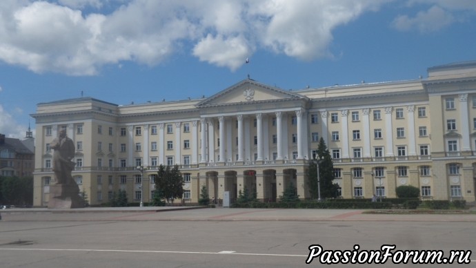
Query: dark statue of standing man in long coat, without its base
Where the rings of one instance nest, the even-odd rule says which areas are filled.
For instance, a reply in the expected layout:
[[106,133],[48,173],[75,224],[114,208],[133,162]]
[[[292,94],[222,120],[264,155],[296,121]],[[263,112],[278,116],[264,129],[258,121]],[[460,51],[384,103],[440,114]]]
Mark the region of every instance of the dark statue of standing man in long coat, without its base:
[[72,184],[71,171],[75,169],[76,163],[72,162],[75,157],[75,144],[69,137],[66,137],[66,130],[59,131],[59,137],[50,144],[54,150],[53,171],[54,180],[57,184]]

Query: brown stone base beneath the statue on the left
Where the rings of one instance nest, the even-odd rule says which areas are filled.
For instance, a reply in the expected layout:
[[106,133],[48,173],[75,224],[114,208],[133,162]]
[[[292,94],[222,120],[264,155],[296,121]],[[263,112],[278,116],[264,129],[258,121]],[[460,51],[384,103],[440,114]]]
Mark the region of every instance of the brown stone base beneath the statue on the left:
[[77,185],[50,185],[48,209],[77,209],[81,207],[84,207],[84,200],[79,196]]

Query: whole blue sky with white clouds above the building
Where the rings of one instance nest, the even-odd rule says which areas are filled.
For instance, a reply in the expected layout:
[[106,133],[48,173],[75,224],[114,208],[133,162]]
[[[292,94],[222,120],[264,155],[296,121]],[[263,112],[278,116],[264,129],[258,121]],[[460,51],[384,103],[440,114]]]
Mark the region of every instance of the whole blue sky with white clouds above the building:
[[[250,59],[245,64],[246,58]],[[426,77],[476,60],[474,0],[0,1],[0,133],[40,102],[210,96]]]

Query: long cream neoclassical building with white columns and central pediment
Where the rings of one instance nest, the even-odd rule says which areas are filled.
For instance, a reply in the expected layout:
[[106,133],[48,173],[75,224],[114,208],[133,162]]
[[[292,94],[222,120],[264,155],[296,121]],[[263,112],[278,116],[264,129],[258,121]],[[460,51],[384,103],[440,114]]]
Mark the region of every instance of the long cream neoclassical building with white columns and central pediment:
[[32,117],[38,207],[48,204],[50,142],[63,128],[76,146],[72,175],[90,204],[119,189],[130,202],[148,202],[160,164],[179,165],[182,202],[196,203],[202,185],[210,198],[228,192],[231,201],[247,187],[276,202],[289,184],[309,198],[306,171],[320,137],[344,198],[395,198],[397,186],[413,185],[424,199],[475,201],[476,61],[407,81],[291,91],[248,78],[201,99],[52,100]]

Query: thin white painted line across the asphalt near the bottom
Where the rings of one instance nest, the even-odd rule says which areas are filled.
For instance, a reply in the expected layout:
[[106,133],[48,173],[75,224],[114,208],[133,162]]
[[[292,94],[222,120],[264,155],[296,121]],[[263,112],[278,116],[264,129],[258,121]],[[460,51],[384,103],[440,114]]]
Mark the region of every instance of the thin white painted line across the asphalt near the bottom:
[[199,251],[156,251],[156,250],[122,250],[122,249],[1,249],[0,251],[89,251],[89,252],[130,252],[130,253],[184,253],[184,254],[230,254],[246,256],[276,256],[276,257],[307,257],[307,255],[268,254],[268,253],[237,253],[235,251],[199,252]]

